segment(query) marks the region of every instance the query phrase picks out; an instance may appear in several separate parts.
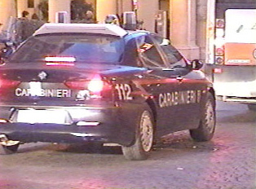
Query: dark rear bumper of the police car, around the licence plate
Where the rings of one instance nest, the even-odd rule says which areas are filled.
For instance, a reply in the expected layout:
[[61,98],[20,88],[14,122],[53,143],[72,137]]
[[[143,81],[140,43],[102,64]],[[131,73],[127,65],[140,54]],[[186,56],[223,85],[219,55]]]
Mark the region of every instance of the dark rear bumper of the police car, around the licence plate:
[[[72,112],[71,109],[66,108],[69,112]],[[80,108],[77,109],[78,112],[84,111],[87,114],[84,116],[72,114],[73,123],[68,125],[7,122],[0,123],[0,134],[6,134],[8,139],[22,143],[100,142],[128,146],[134,141],[135,137],[136,109],[138,108]],[[10,115],[10,113],[7,113],[7,109],[6,111],[0,111],[2,116],[8,114]],[[7,117],[1,116],[0,118],[7,119]],[[97,122],[99,124],[77,125],[77,121]]]

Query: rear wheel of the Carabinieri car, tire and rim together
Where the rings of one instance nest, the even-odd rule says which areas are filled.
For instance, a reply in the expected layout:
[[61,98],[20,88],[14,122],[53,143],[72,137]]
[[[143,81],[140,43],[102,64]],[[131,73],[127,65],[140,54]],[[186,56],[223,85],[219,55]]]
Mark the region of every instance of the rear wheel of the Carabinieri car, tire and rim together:
[[139,114],[136,123],[135,143],[121,150],[127,160],[146,160],[152,150],[154,136],[154,121],[150,108],[146,107]]

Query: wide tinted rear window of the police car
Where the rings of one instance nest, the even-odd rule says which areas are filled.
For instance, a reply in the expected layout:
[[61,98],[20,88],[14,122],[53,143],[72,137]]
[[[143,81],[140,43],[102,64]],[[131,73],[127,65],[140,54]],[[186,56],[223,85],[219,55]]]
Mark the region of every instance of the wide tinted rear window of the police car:
[[11,56],[10,62],[43,61],[46,57],[72,57],[76,62],[118,64],[124,44],[120,37],[95,34],[47,34],[31,37]]

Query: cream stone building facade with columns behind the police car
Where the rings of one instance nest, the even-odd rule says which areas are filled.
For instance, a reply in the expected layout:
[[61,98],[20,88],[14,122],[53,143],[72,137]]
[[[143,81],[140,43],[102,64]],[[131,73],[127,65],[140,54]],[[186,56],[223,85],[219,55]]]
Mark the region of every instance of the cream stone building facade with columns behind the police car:
[[[38,5],[48,4],[48,20],[55,22],[55,13],[71,14],[72,0],[0,0],[0,23],[10,16],[21,17],[22,11],[36,13],[42,18]],[[170,38],[188,59],[205,60],[207,9],[215,0],[85,0],[93,7],[95,20],[104,22],[109,14],[121,15],[124,11],[135,11],[141,27]],[[160,11],[161,10],[161,11]],[[30,17],[31,18],[31,17]],[[70,21],[70,16],[68,16]],[[0,28],[1,29],[1,28]]]

